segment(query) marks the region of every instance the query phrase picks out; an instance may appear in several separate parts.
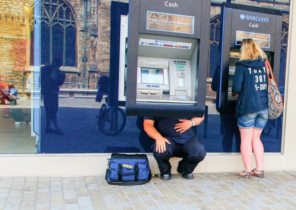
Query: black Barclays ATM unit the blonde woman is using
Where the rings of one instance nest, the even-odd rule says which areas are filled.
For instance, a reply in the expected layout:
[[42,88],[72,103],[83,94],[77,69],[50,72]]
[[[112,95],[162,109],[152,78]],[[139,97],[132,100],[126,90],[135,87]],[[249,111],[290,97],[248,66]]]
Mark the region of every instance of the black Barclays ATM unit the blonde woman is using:
[[255,6],[223,3],[220,22],[220,72],[216,108],[229,111],[235,107],[236,97],[231,95],[236,62],[240,58],[241,42],[252,38],[267,55],[278,82],[282,35],[282,12]]

